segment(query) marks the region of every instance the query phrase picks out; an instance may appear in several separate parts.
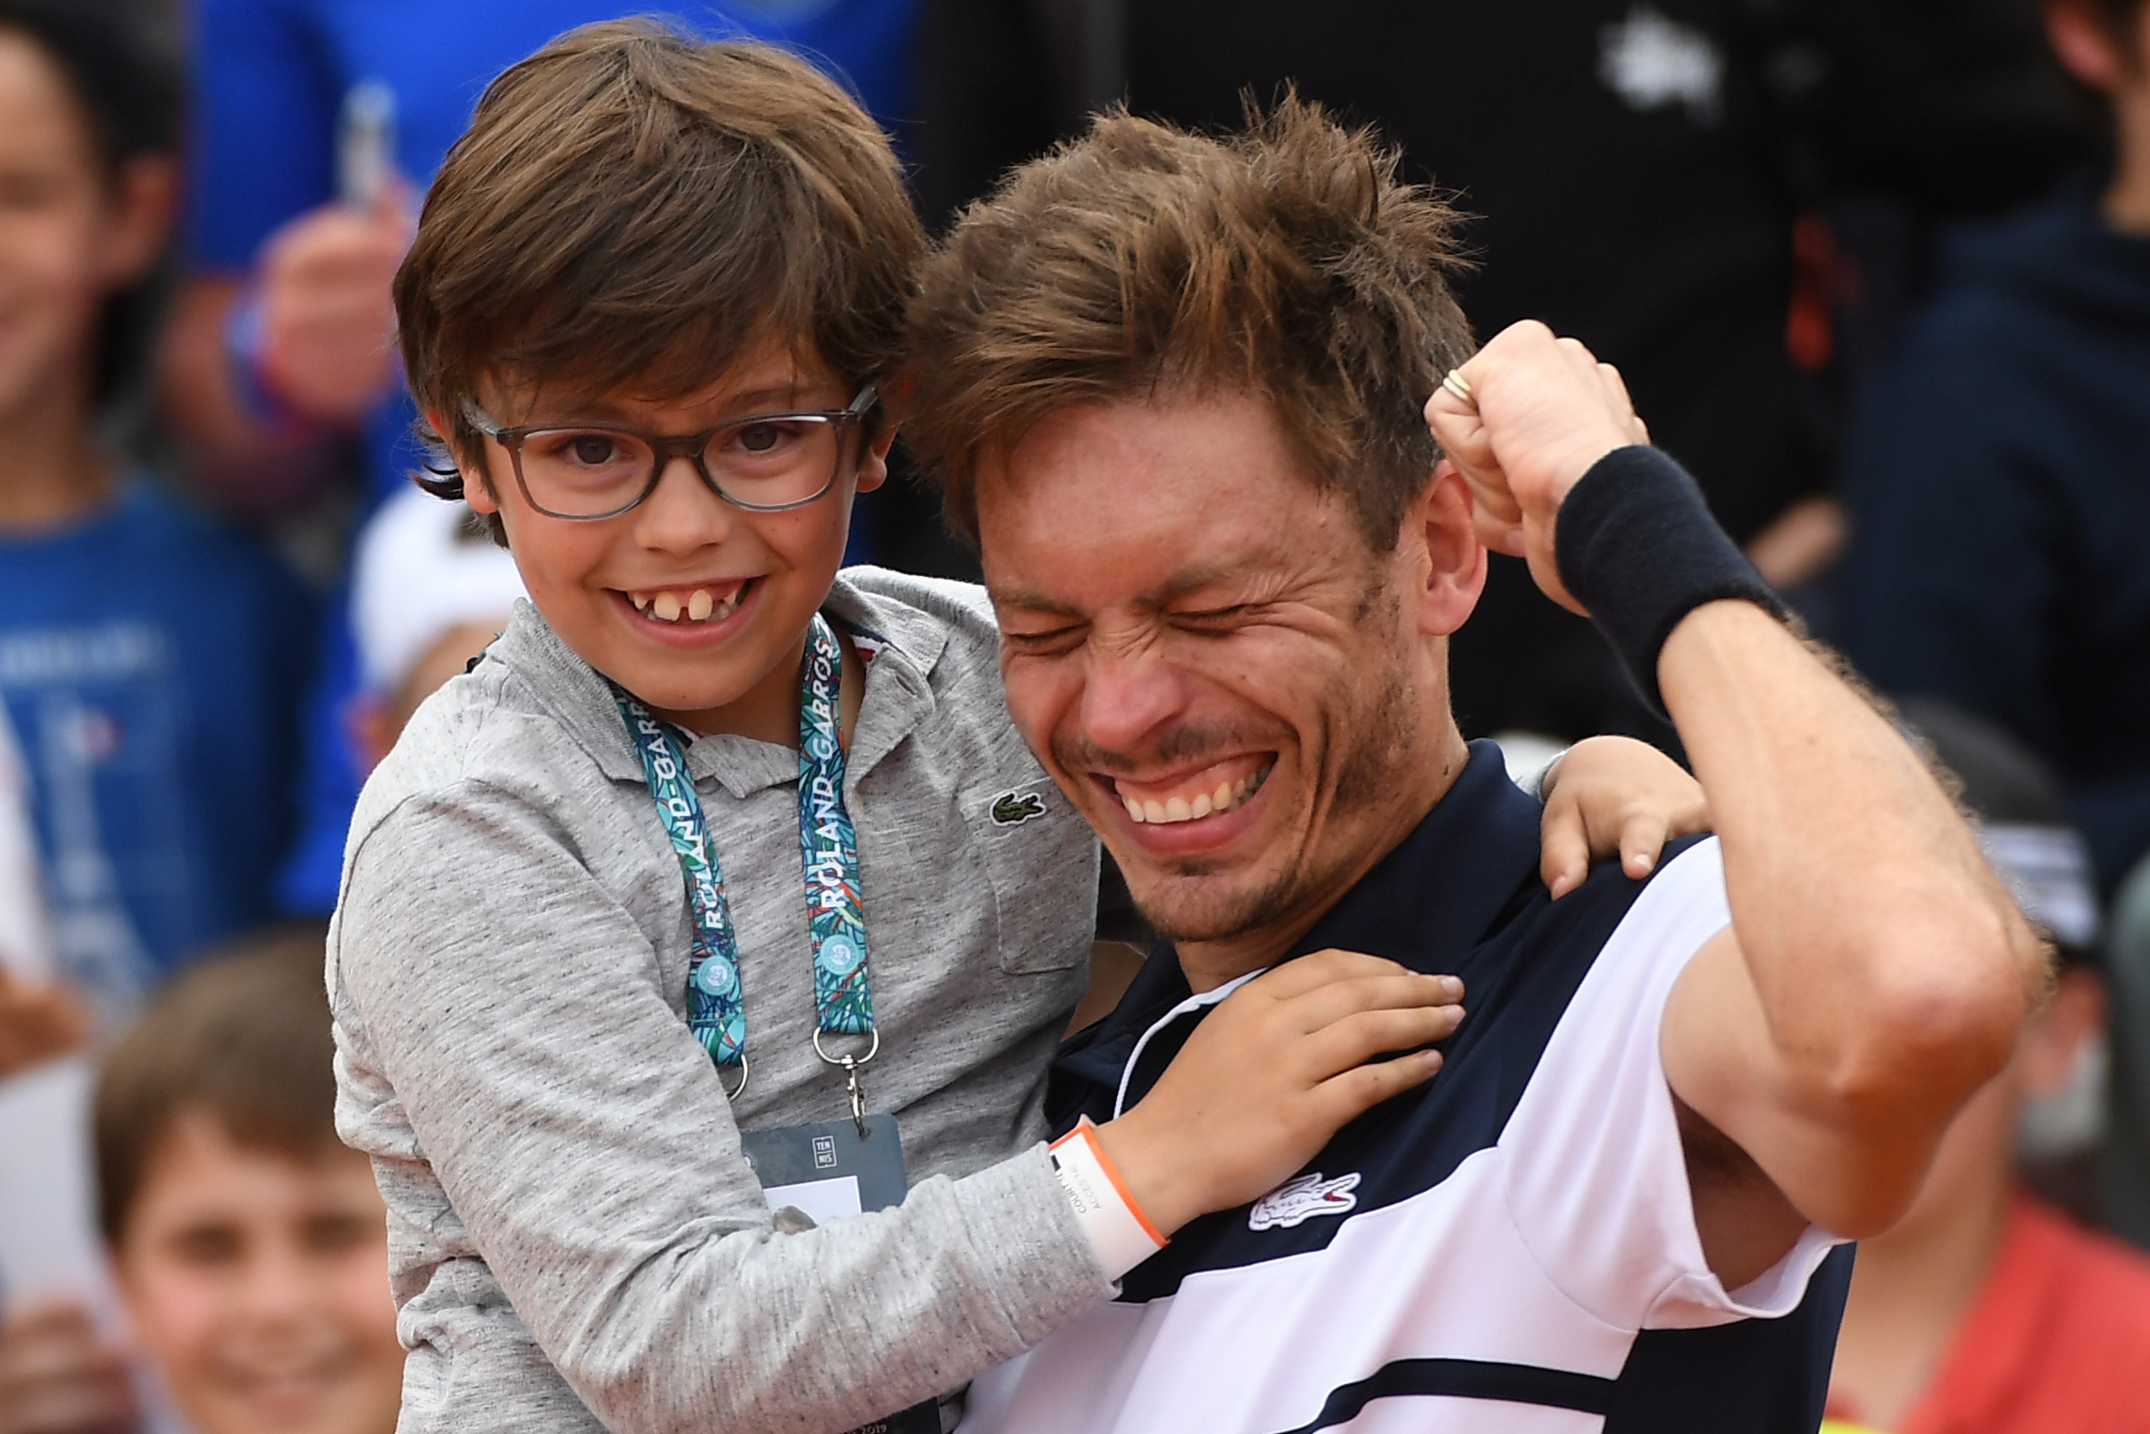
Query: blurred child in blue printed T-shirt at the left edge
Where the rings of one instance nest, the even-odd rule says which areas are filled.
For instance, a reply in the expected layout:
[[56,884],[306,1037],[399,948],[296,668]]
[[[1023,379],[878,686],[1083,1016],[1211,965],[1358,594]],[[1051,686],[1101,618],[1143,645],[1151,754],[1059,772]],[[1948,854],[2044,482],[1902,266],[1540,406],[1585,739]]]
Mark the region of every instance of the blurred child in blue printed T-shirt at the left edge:
[[267,914],[307,602],[97,439],[174,206],[176,77],[71,0],[0,0],[0,703],[62,974],[116,1023]]

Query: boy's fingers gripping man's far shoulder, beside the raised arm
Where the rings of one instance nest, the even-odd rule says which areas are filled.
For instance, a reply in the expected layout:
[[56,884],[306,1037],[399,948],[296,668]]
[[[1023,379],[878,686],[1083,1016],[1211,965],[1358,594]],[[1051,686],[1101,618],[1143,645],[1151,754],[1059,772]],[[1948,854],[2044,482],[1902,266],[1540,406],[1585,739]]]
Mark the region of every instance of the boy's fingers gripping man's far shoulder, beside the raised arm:
[[1675,836],[1711,830],[1709,798],[1677,761],[1634,737],[1585,737],[1546,772],[1539,877],[1554,897],[1591,862],[1619,858],[1640,881]]

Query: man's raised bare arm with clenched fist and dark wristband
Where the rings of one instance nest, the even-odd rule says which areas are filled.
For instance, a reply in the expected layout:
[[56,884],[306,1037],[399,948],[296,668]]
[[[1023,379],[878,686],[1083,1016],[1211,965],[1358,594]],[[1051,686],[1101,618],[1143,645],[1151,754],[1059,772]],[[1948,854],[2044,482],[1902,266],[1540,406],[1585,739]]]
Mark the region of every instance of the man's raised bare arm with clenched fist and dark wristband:
[[1610,368],[1516,325],[1460,376],[1428,419],[1479,535],[1662,701],[1722,838],[1733,927],[1675,985],[1662,1043],[1709,1264],[1737,1288],[1806,1221],[1877,1234],[2008,1062],[2042,948],[1903,737],[1772,615],[1692,482],[1634,447]]

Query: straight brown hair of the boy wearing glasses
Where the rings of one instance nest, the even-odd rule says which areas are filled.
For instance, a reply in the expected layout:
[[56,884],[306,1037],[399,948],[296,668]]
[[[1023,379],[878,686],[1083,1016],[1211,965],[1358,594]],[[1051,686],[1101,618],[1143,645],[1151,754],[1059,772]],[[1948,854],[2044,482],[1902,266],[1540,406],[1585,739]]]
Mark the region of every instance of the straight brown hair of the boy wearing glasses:
[[404,372],[473,467],[479,378],[682,398],[774,335],[856,389],[897,357],[922,252],[888,135],[804,60],[583,26],[486,86],[432,181]]

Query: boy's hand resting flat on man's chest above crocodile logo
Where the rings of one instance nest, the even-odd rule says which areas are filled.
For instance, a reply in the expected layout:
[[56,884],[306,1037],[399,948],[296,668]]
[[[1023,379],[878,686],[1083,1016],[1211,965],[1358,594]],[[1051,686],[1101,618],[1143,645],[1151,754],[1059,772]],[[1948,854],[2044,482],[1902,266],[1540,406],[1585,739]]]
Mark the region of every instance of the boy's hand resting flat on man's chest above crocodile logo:
[[[1464,987],[1350,950],[1256,976],[1195,1028],[1157,1086],[1099,1127],[1161,1232],[1273,1191],[1350,1120],[1432,1079]],[[1393,1051],[1410,1051],[1393,1056]]]

